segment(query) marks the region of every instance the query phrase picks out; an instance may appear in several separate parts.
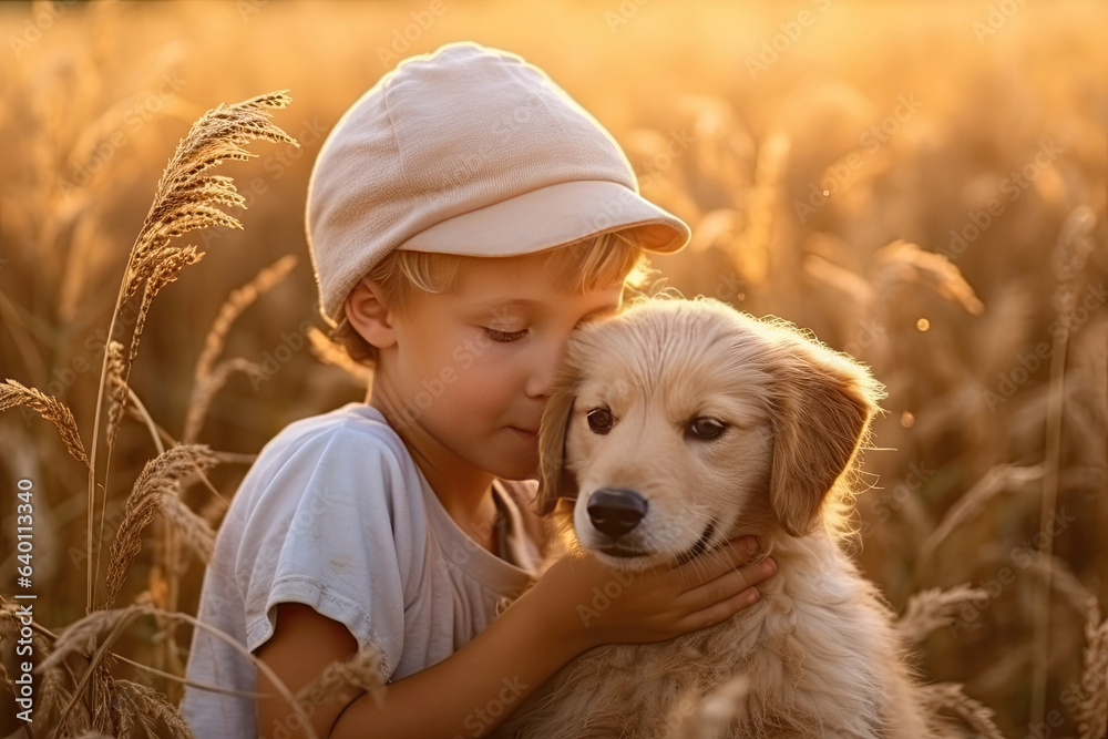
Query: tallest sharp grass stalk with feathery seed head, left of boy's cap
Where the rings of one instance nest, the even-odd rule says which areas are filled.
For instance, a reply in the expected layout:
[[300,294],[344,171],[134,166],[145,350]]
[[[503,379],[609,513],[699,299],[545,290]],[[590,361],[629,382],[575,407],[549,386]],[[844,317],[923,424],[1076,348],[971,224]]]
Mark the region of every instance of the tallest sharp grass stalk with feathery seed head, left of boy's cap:
[[[188,130],[170,160],[154,193],[154,202],[143,222],[138,237],[131,248],[127,266],[116,297],[115,309],[109,327],[109,340],[115,340],[120,310],[123,304],[142,294],[138,320],[131,335],[131,348],[117,368],[119,377],[126,384],[131,362],[137,350],[138,339],[146,312],[158,290],[176,279],[181,270],[195,264],[203,255],[194,246],[179,247],[175,239],[188,232],[211,226],[242,228],[242,224],[224,213],[219,206],[245,207],[246,199],[238,194],[229,177],[205,174],[225,160],[248,160],[252,154],[245,148],[253,141],[293,144],[297,142],[270,121],[269,110],[283,109],[290,102],[286,92],[274,92],[232,105],[219,105],[208,111]],[[121,337],[122,338],[122,337]],[[105,383],[109,376],[109,352],[104,352],[101,368],[100,389],[96,396],[96,411],[93,417],[92,456],[89,463],[88,492],[88,585],[85,612],[94,607],[93,597],[93,552],[92,528],[96,509],[96,448],[100,438],[101,412],[104,402]],[[112,444],[107,445],[105,468],[110,471]],[[107,471],[104,473],[104,490],[107,490]],[[106,496],[105,496],[106,506]]]

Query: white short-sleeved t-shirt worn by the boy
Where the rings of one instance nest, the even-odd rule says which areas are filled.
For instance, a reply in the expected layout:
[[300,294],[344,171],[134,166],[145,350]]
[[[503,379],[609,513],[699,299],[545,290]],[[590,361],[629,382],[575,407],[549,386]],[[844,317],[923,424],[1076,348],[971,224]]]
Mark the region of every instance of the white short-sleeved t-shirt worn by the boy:
[[[276,606],[302,603],[382,655],[396,680],[445,659],[519,596],[542,556],[525,507],[536,483],[493,483],[497,557],[442,507],[381,413],[349,403],[289,424],[243,480],[204,575],[198,618],[248,651],[274,633]],[[196,628],[189,680],[256,690],[238,649]],[[258,736],[255,701],[186,686],[181,710],[197,737]]]

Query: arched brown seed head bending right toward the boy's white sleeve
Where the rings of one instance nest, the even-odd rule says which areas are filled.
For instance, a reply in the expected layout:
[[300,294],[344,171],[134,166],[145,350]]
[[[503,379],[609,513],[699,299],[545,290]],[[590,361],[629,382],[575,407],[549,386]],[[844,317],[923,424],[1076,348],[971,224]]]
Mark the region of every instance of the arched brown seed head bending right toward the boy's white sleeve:
[[142,530],[162,509],[162,497],[166,493],[172,495],[179,480],[194,469],[203,472],[215,463],[215,455],[203,444],[174,447],[146,463],[127,496],[123,522],[112,542],[107,565],[106,607],[110,608],[115,602],[127,567],[142,550]]

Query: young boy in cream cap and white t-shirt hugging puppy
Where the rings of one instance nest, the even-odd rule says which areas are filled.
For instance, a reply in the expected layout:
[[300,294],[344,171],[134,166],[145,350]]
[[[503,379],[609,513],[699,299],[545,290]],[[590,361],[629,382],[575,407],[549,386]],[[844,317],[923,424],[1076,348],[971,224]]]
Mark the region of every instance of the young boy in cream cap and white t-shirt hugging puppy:
[[757,598],[771,569],[736,569],[752,542],[643,573],[587,624],[577,606],[614,577],[595,558],[534,581],[536,431],[566,338],[619,309],[644,250],[689,237],[543,72],[472,43],[406,60],[331,132],[307,218],[321,312],[375,377],[365,403],[281,431],[235,495],[199,608],[228,638],[196,629],[182,702],[197,737],[308,736],[280,695],[359,648],[383,702],[316,692],[317,736],[483,736],[582,651]]

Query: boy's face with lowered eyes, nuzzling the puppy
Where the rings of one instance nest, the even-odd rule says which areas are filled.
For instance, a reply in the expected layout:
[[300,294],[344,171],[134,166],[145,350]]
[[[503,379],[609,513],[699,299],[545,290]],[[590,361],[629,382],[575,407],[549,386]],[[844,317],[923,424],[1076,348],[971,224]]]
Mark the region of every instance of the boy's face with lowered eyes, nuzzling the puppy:
[[375,396],[425,433],[420,452],[439,469],[534,476],[535,432],[570,332],[619,309],[619,284],[567,294],[544,258],[468,259],[453,291],[393,314]]

